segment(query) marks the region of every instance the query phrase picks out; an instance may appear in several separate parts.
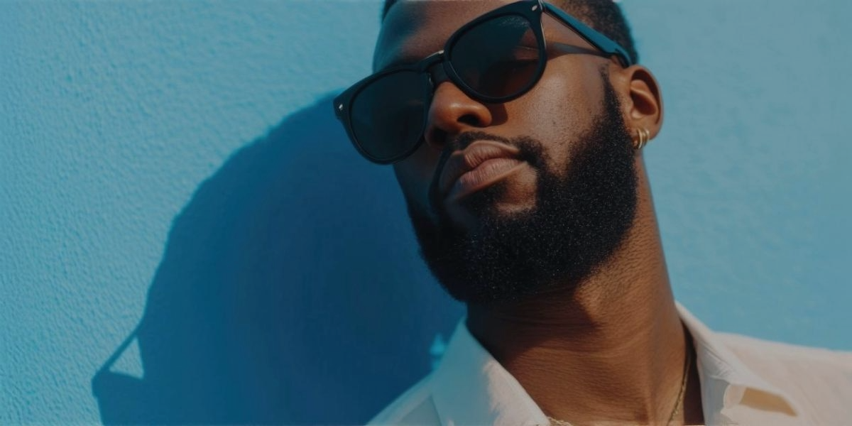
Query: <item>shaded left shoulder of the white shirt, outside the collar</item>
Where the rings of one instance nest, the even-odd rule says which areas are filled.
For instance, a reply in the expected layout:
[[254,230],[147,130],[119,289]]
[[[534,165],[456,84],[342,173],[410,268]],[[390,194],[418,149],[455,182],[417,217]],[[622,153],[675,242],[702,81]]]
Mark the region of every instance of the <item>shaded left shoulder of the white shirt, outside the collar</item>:
[[373,417],[368,424],[440,425],[438,412],[432,402],[432,379],[432,374],[423,377],[420,382],[406,390],[376,417]]

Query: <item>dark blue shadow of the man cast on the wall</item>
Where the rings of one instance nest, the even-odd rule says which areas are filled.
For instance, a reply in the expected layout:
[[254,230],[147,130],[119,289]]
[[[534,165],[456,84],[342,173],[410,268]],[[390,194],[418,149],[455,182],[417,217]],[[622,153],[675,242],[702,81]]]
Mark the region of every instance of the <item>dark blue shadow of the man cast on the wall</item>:
[[[92,387],[106,424],[366,423],[461,314],[417,255],[392,170],[355,153],[328,97],[198,188]],[[141,379],[109,371],[134,338]]]

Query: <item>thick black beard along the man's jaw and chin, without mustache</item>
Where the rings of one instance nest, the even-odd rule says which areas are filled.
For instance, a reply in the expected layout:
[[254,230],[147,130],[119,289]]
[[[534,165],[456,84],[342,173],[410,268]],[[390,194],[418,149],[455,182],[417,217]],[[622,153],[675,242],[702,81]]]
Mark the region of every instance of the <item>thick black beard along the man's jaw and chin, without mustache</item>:
[[530,210],[501,214],[499,183],[465,200],[475,210],[475,232],[453,225],[440,199],[437,223],[408,204],[421,256],[441,285],[461,302],[520,302],[555,291],[574,291],[618,250],[636,214],[636,167],[619,101],[604,78],[604,111],[579,138],[567,170],[550,170],[540,142],[504,141],[538,173]]

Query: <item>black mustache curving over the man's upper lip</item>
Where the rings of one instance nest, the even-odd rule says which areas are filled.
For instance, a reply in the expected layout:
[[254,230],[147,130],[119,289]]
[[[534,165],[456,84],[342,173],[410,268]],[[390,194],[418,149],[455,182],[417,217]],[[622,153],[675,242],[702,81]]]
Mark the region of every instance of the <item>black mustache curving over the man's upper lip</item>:
[[516,147],[520,151],[518,158],[521,161],[526,161],[527,164],[535,170],[543,170],[546,160],[544,158],[544,147],[542,143],[530,136],[522,135],[513,138],[504,136],[492,135],[481,130],[472,130],[461,133],[446,141],[444,150],[440,153],[438,164],[435,166],[435,173],[432,176],[432,181],[429,183],[429,212],[434,217],[441,217],[444,211],[444,200],[440,197],[439,180],[440,174],[446,166],[447,160],[450,159],[452,153],[461,151],[475,141],[497,141]]

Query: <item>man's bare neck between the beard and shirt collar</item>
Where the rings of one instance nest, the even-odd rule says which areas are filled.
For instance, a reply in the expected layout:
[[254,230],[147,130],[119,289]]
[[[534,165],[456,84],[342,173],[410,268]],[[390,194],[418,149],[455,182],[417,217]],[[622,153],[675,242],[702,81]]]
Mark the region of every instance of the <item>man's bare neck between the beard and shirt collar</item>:
[[[691,347],[640,171],[634,226],[596,273],[562,294],[468,307],[470,332],[546,414],[574,425],[665,424],[681,389]],[[699,390],[688,397],[695,411]]]

